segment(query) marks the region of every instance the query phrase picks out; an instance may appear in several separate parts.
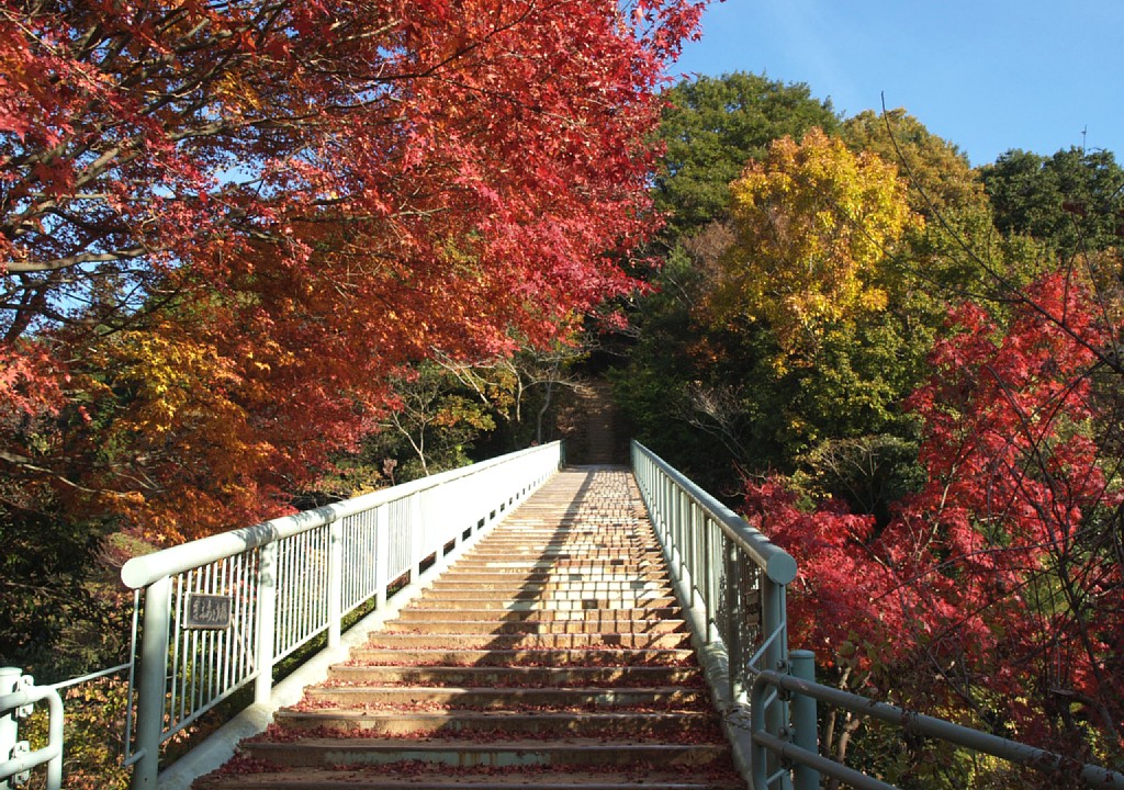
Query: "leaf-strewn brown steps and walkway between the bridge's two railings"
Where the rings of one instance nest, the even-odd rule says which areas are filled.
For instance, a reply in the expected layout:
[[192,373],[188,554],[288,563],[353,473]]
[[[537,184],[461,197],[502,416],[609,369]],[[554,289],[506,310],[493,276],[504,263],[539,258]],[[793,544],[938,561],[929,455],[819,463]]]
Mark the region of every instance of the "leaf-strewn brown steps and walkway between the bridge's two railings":
[[632,475],[559,473],[196,790],[732,790]]

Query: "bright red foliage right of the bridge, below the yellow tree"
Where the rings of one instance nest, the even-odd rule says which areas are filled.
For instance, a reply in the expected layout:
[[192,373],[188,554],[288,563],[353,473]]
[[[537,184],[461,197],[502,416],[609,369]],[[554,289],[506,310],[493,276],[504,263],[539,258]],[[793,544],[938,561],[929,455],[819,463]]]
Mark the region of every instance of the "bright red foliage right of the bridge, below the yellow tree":
[[879,534],[833,503],[800,510],[782,481],[746,487],[751,516],[801,564],[795,646],[912,706],[998,716],[1070,754],[1124,747],[1122,496],[1098,427],[1121,372],[1103,315],[1063,274],[1001,325],[954,309],[907,403],[927,482]]

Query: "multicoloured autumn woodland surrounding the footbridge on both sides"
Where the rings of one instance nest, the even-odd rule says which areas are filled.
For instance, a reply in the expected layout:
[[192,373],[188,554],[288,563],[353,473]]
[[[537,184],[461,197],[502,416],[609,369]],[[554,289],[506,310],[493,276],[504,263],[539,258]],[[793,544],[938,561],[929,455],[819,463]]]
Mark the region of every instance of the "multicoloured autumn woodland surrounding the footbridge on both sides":
[[3,663],[116,663],[142,542],[553,438],[607,376],[797,556],[828,682],[1118,765],[1124,173],[669,88],[701,6],[0,6]]

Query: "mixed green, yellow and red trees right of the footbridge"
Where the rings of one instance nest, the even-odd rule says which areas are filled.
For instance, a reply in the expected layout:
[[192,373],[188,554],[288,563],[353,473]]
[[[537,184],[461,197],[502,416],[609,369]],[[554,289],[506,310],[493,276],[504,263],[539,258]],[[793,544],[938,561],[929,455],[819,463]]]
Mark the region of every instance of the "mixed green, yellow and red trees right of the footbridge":
[[[1124,171],[973,170],[903,110],[744,74],[669,98],[664,265],[615,372],[637,436],[796,555],[830,682],[1118,766]],[[1059,787],[824,725],[901,787]]]

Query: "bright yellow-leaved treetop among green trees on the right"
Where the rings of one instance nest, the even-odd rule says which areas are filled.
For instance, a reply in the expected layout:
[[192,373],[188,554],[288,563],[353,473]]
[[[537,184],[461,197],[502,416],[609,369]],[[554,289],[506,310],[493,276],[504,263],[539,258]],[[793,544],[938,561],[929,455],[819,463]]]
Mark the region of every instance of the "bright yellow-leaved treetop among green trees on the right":
[[922,221],[892,165],[819,129],[776,140],[731,193],[736,240],[715,317],[768,323],[782,356],[815,346],[828,324],[883,309],[879,265]]

